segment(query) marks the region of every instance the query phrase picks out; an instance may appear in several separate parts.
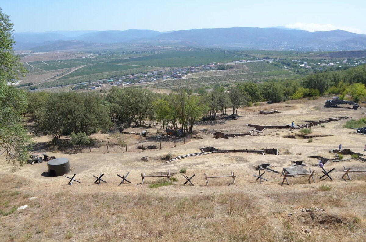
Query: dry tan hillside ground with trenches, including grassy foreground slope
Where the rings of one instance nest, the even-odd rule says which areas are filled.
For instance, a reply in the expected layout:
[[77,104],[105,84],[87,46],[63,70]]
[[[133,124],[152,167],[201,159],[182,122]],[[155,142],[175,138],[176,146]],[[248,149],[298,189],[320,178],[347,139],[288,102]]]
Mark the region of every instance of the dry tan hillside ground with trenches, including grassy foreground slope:
[[[148,129],[150,138],[122,134],[127,144],[121,147],[111,134],[95,134],[96,144],[82,151],[68,149],[55,152],[47,147],[50,137],[34,137],[38,151],[51,156],[70,159],[72,171],[81,183],[68,186],[68,179],[45,177],[46,162],[21,167],[11,174],[4,155],[0,156],[1,201],[0,210],[11,207],[30,207],[0,217],[0,235],[5,241],[365,241],[366,175],[353,173],[352,181],[341,179],[343,166],[366,170],[366,163],[359,159],[328,162],[325,170],[333,181],[320,179],[318,162],[311,155],[333,158],[329,150],[343,148],[365,154],[366,136],[343,128],[347,120],[340,120],[312,128],[313,142],[284,136],[298,131],[266,129],[260,136],[231,139],[214,139],[211,132],[248,132],[245,124],[283,125],[303,124],[303,120],[324,120],[329,117],[365,117],[365,109],[325,108],[324,100],[288,101],[240,109],[237,120],[220,119],[200,122],[194,127],[196,136],[202,139],[157,138],[161,133]],[[277,109],[281,113],[263,115],[260,109]],[[142,129],[130,128],[130,132]],[[109,141],[109,143],[108,143]],[[176,141],[176,147],[174,147]],[[162,149],[160,150],[160,142]],[[107,153],[107,145],[109,152]],[[156,145],[154,150],[137,148],[139,145]],[[246,153],[208,154],[166,162],[172,156],[199,152],[200,147],[221,149],[277,148],[279,155]],[[148,156],[148,161],[141,160]],[[351,158],[345,155],[346,159]],[[269,163],[271,168],[282,171],[291,161],[303,160],[305,169],[315,169],[315,183],[307,177],[289,178],[290,185],[281,186],[279,174],[266,171],[269,181],[255,181],[255,166]],[[189,177],[195,174],[195,186],[182,186],[185,182],[181,168]],[[131,184],[118,186],[119,175],[130,174]],[[149,188],[158,178],[146,178],[141,185],[140,174],[174,173],[178,181],[173,185]],[[203,173],[208,176],[229,175],[232,179],[210,179],[205,186]],[[104,173],[107,183],[95,185],[93,175]],[[28,200],[29,197],[37,197]],[[304,210],[302,208],[309,208]],[[323,210],[322,210],[323,209]]]

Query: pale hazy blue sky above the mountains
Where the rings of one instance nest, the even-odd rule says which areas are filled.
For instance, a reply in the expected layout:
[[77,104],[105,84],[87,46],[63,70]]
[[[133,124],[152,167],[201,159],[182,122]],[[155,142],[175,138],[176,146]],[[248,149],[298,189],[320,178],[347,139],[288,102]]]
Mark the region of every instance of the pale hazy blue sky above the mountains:
[[366,1],[1,0],[15,32],[286,26],[366,34]]

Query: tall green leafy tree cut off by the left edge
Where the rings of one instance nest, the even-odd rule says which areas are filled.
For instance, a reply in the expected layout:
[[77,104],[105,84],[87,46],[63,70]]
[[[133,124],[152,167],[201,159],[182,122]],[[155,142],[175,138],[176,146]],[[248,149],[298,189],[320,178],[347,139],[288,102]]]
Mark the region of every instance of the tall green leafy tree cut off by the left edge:
[[22,126],[22,114],[27,107],[24,91],[8,86],[24,76],[25,68],[14,55],[13,25],[9,15],[0,8],[0,147],[10,153],[8,162],[13,169],[26,163],[31,139]]

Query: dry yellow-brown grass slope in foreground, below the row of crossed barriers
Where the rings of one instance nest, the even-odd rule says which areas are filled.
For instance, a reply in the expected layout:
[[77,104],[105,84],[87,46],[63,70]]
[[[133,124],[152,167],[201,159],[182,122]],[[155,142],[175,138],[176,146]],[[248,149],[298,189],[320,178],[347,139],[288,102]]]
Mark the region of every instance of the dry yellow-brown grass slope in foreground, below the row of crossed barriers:
[[[366,239],[364,220],[357,213],[332,215],[311,210],[304,213],[306,216],[298,212],[289,218],[282,212],[284,204],[294,204],[295,209],[342,207],[348,203],[344,196],[356,193],[365,197],[366,185],[258,197],[234,192],[175,197],[144,192],[128,196],[108,192],[25,193],[20,190],[26,190],[23,187],[29,181],[19,183],[15,175],[5,175],[0,182],[0,209],[30,206],[0,218],[0,236],[8,241],[317,241],[324,231],[330,234],[328,241],[352,241],[357,234],[358,239]],[[274,198],[264,205],[259,198],[268,195]],[[38,198],[28,200],[30,196]],[[273,213],[273,208],[280,211]],[[312,232],[305,233],[305,228]]]

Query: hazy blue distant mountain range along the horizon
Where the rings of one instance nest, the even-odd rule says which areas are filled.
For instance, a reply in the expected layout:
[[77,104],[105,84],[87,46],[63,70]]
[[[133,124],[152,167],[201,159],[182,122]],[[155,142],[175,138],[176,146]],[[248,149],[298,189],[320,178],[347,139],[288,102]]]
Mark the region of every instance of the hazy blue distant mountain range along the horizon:
[[120,43],[231,49],[366,49],[364,34],[343,30],[309,32],[280,27],[192,29],[164,33],[153,30],[25,32],[15,33],[14,40],[14,49],[33,51],[90,49]]

